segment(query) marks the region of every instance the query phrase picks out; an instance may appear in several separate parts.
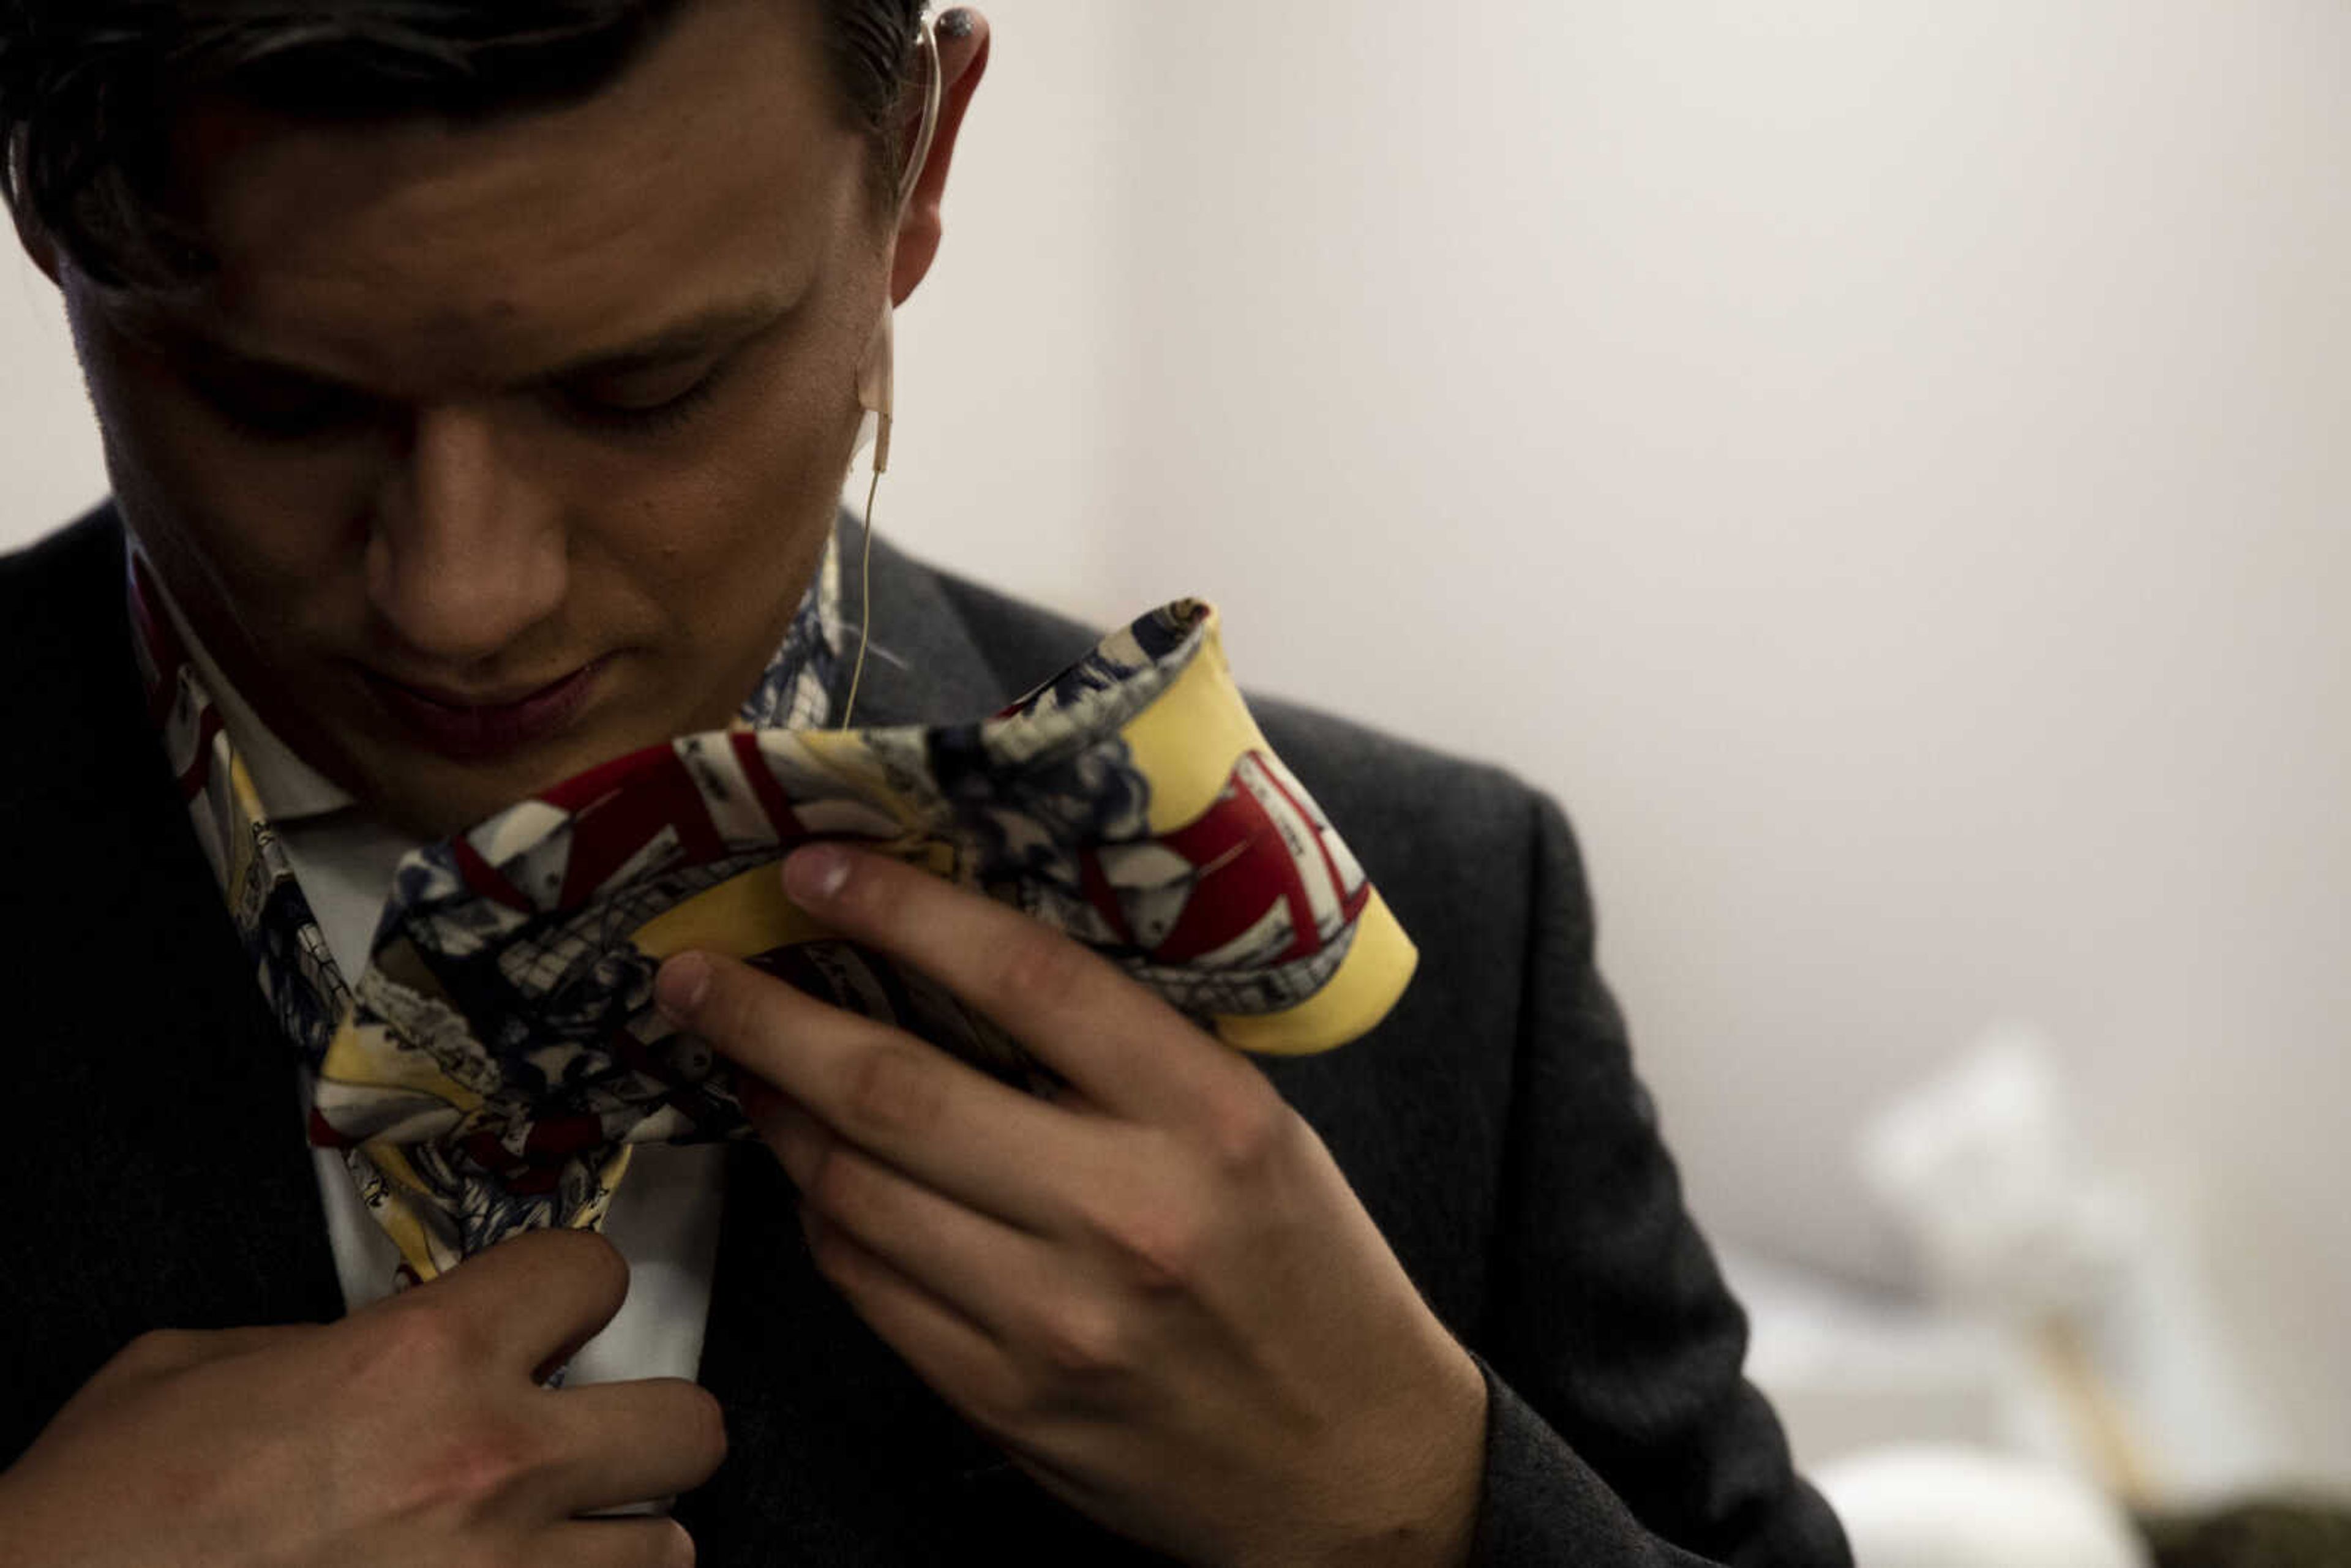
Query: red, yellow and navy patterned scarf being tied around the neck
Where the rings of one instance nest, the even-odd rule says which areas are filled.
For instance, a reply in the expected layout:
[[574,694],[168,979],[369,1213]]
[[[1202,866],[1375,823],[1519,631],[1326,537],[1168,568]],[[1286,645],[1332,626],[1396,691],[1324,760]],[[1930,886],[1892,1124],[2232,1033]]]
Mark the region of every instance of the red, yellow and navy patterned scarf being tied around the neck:
[[402,858],[346,980],[245,762],[134,552],[150,715],[261,992],[310,1072],[310,1140],[433,1279],[505,1237],[597,1227],[637,1143],[745,1138],[734,1070],[651,1006],[686,947],[729,952],[1027,1088],[1053,1074],[924,976],[783,898],[776,860],[851,839],[1112,957],[1253,1051],[1371,1030],[1413,947],[1265,745],[1178,602],[990,719],[823,731],[839,567],[743,722],[632,752]]

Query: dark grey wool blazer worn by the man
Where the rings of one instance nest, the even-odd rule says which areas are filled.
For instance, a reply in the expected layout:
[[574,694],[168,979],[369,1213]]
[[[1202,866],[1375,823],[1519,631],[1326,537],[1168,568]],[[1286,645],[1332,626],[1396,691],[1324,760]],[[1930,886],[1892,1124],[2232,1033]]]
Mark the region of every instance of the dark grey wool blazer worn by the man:
[[[853,529],[853,522],[844,522]],[[992,712],[1093,632],[875,548],[868,722]],[[341,1314],[287,1046],[139,693],[110,508],[0,559],[0,1465],[148,1328]],[[1559,809],[1507,773],[1258,703],[1420,945],[1361,1041],[1270,1060],[1491,1385],[1476,1561],[1836,1568],[1740,1361]],[[1159,1561],[1067,1512],[813,1274],[790,1190],[731,1152],[701,1380],[731,1453],[679,1502],[712,1568]]]

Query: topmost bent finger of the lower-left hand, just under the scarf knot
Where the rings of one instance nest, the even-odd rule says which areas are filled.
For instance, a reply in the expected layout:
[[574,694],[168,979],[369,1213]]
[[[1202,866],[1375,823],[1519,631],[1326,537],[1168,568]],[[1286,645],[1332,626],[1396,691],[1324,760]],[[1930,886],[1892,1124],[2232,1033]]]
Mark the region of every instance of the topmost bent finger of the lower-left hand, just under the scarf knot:
[[628,1262],[611,1241],[585,1229],[536,1229],[369,1312],[454,1314],[503,1366],[541,1378],[592,1340],[625,1298]]

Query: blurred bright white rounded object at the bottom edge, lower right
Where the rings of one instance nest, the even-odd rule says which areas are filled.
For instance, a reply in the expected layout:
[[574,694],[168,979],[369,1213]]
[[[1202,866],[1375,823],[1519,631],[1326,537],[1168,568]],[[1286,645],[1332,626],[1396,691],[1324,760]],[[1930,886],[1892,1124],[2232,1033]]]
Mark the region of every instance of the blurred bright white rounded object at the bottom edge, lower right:
[[1956,1446],[1881,1448],[1813,1483],[1846,1523],[1853,1568],[2149,1568],[2146,1542],[2092,1486]]

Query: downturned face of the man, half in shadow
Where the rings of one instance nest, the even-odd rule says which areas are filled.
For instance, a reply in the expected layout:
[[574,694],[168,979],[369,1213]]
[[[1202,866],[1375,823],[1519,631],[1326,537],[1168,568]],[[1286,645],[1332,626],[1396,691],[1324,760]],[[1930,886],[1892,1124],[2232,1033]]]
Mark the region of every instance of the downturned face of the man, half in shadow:
[[487,127],[207,103],[176,188],[216,280],[61,270],[134,534],[383,818],[724,726],[781,642],[893,289],[813,9],[696,0],[592,101]]

